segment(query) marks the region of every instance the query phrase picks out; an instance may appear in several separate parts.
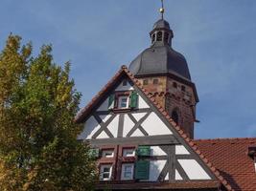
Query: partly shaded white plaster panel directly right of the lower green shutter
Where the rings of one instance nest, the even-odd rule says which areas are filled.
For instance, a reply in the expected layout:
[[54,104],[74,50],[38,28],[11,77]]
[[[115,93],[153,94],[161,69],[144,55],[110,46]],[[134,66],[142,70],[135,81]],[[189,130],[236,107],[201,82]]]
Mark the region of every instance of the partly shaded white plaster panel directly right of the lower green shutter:
[[156,181],[158,179],[165,163],[166,163],[166,159],[151,160],[149,181]]

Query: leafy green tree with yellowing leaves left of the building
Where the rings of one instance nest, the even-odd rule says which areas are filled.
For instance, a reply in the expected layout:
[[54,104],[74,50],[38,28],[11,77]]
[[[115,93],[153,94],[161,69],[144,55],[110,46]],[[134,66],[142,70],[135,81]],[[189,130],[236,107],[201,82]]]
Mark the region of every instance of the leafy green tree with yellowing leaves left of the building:
[[95,162],[77,140],[81,94],[70,64],[53,61],[51,46],[32,56],[30,43],[10,35],[0,53],[0,188],[92,190]]

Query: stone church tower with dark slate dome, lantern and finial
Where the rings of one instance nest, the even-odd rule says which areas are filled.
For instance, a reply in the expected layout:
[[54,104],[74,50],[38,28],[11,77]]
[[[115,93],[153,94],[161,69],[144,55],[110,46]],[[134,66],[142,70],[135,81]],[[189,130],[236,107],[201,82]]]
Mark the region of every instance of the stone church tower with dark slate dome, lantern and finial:
[[194,138],[197,89],[185,57],[172,47],[174,32],[163,18],[163,8],[160,11],[162,18],[150,32],[151,47],[140,53],[128,69],[183,131]]

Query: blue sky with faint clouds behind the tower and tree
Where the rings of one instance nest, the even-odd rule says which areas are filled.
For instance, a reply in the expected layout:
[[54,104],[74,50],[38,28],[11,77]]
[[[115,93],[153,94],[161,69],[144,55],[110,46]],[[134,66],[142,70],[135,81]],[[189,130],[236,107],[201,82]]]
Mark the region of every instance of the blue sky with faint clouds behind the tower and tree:
[[[1,0],[0,48],[10,32],[34,53],[53,44],[55,61],[72,62],[84,106],[121,65],[150,46],[160,0]],[[256,1],[166,0],[198,88],[196,138],[256,137]]]

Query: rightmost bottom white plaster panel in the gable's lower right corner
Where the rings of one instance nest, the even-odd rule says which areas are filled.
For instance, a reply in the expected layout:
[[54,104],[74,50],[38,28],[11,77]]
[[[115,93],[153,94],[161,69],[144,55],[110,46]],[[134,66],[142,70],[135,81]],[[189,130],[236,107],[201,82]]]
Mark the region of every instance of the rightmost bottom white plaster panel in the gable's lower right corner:
[[211,180],[196,159],[178,159],[190,180]]

